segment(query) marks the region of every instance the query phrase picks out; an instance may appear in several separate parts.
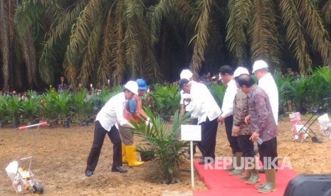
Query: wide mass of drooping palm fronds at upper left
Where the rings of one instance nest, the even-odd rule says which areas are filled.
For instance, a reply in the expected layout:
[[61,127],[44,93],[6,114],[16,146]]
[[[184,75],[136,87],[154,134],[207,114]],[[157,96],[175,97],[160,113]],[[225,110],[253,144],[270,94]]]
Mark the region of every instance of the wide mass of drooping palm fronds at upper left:
[[159,75],[145,13],[142,0],[23,0],[16,21],[22,33],[36,18],[51,21],[39,60],[44,82],[52,83],[54,70],[63,69],[73,86],[101,86],[108,78],[117,85]]

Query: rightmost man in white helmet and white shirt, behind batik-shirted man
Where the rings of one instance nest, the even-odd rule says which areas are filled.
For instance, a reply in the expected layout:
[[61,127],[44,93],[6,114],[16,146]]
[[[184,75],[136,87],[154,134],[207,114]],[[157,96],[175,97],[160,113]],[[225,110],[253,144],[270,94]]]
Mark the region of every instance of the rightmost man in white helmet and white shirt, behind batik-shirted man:
[[278,88],[270,74],[268,64],[264,60],[256,60],[253,64],[253,74],[258,79],[258,86],[261,87],[267,94],[270,100],[271,109],[273,110],[273,118],[275,124],[278,124]]

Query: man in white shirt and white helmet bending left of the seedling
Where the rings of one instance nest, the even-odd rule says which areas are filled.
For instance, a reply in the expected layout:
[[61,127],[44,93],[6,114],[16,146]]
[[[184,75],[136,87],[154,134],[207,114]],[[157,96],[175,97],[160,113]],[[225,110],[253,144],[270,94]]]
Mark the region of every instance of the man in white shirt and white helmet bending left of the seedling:
[[107,134],[113,144],[112,154],[112,172],[125,173],[127,170],[122,166],[122,145],[118,132],[118,125],[132,126],[123,116],[123,109],[127,100],[132,99],[134,94],[138,94],[138,85],[135,81],[129,81],[125,84],[123,92],[116,94],[99,111],[95,119],[95,130],[92,148],[88,156],[88,164],[85,175],[90,177],[98,164],[103,141]]

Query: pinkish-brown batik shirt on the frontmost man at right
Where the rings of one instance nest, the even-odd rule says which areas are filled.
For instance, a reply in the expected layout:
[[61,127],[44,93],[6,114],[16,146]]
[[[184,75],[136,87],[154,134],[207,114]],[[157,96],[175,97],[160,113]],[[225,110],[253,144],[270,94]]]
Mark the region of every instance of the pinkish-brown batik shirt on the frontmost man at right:
[[260,134],[263,141],[269,141],[278,135],[277,125],[273,119],[273,111],[266,92],[253,85],[249,97],[249,114],[251,115],[251,130]]

